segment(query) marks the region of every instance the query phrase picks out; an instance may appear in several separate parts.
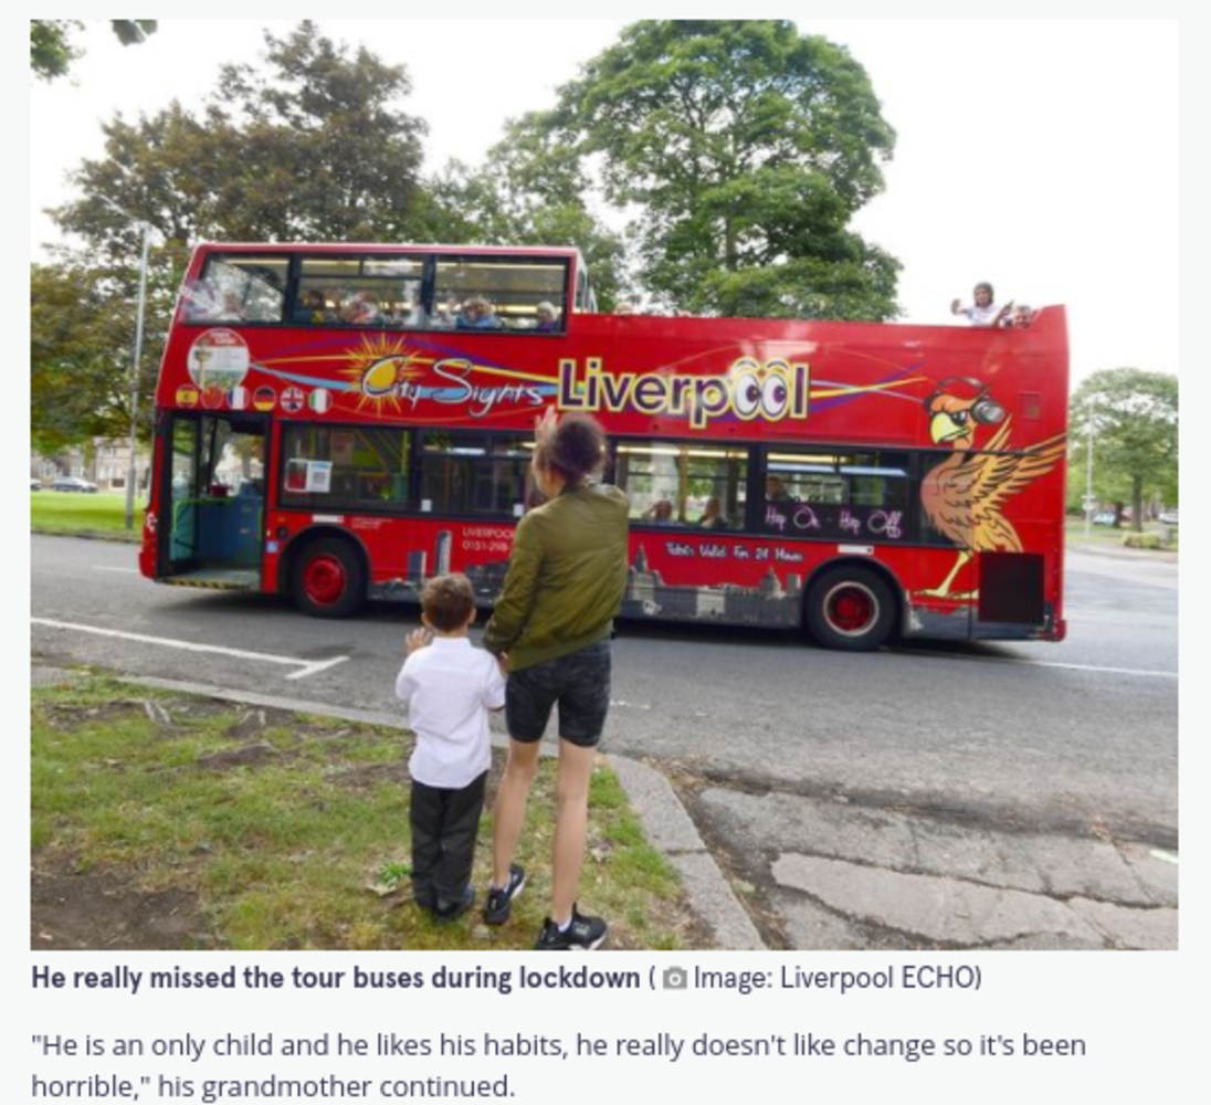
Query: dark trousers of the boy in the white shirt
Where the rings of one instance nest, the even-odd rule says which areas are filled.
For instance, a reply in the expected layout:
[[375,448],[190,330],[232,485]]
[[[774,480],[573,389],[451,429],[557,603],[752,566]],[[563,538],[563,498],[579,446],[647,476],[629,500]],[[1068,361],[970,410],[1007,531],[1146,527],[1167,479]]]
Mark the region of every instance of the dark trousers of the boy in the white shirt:
[[487,781],[487,772],[458,790],[412,780],[412,893],[418,905],[458,901],[470,884]]

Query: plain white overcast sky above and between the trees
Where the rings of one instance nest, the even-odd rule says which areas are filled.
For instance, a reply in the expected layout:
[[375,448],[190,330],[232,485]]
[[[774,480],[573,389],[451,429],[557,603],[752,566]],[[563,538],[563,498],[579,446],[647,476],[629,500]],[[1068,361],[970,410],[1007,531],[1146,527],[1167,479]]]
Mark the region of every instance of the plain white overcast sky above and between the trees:
[[[626,21],[629,22],[629,21]],[[320,21],[404,63],[430,124],[426,167],[480,160],[506,118],[547,107],[625,21]],[[196,105],[262,29],[294,21],[162,19],[122,47],[104,23],[70,80],[30,87],[30,247],[101,122]],[[1177,22],[800,21],[848,46],[897,132],[886,190],[856,228],[903,263],[907,320],[952,321],[988,280],[999,300],[1063,303],[1074,383],[1098,368],[1178,371]]]

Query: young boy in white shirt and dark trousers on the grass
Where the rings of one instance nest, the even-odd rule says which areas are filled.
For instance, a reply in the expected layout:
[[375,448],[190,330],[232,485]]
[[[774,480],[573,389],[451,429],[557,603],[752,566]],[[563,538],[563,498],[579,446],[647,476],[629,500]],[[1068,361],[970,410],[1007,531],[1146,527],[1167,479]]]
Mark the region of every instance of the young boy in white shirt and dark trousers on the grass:
[[412,774],[412,893],[449,921],[475,904],[471,864],[492,765],[488,710],[505,704],[497,658],[475,648],[475,592],[461,574],[437,576],[420,596],[425,629],[408,634],[395,693],[408,703],[417,745]]

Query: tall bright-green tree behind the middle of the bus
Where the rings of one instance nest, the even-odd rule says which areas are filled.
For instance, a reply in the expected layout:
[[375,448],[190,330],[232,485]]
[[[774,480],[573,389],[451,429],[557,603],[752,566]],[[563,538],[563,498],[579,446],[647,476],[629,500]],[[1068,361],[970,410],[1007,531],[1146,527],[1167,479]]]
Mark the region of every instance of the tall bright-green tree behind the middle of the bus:
[[638,212],[638,274],[666,305],[896,316],[899,262],[848,229],[895,133],[844,47],[787,21],[645,21],[534,122]]

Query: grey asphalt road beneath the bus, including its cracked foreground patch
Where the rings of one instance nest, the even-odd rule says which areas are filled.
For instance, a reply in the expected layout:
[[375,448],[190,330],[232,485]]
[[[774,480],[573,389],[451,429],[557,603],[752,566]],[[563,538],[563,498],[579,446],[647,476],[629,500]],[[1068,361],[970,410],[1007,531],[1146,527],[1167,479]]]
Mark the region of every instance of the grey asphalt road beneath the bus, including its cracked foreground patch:
[[[132,567],[125,546],[34,538],[35,651],[396,711],[413,612],[315,623]],[[687,876],[714,886],[704,868],[718,865],[739,887],[748,924],[724,910],[721,941],[1175,941],[1176,566],[1074,551],[1068,601],[1061,646],[845,657],[774,634],[626,628],[607,743],[659,769],[636,785]]]

